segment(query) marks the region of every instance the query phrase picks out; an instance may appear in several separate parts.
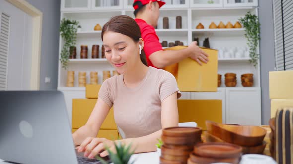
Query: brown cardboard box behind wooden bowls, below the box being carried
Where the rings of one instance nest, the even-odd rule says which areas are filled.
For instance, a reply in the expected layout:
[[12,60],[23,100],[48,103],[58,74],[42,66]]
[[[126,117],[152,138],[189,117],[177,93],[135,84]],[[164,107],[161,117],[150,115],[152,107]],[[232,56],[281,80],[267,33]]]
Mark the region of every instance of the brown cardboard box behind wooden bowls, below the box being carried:
[[222,123],[222,100],[177,100],[179,123],[196,122],[206,130],[206,120]]

